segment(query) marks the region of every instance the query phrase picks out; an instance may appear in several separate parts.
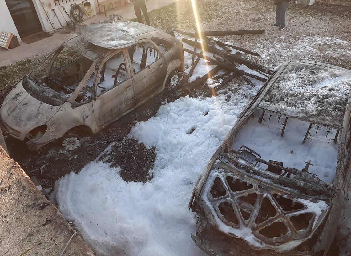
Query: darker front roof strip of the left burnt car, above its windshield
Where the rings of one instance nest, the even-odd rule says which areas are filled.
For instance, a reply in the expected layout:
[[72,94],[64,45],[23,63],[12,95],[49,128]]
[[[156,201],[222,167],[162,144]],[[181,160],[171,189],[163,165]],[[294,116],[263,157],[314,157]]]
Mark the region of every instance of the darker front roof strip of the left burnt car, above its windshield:
[[64,42],[62,45],[77,51],[92,61],[98,59],[101,55],[105,55],[107,52],[105,48],[93,45],[92,43],[86,41],[82,35],[77,35],[74,38]]

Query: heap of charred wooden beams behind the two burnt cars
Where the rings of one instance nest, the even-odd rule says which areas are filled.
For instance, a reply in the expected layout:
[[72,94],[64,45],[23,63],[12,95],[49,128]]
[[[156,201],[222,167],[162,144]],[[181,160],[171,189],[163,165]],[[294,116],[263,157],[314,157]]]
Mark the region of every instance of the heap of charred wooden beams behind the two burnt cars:
[[[184,48],[184,51],[193,55],[190,72],[184,75],[181,82],[183,94],[188,94],[193,90],[204,85],[208,78],[212,78],[214,81],[220,81],[220,85],[217,86],[217,90],[223,87],[227,82],[231,81],[234,77],[241,77],[245,83],[255,87],[251,79],[256,79],[261,82],[267,81],[273,74],[273,70],[263,65],[247,60],[240,55],[240,53],[246,53],[253,56],[259,56],[258,53],[252,52],[238,46],[229,45],[221,42],[217,39],[212,39],[209,36],[223,36],[223,35],[247,35],[247,34],[261,34],[263,30],[245,30],[245,31],[196,31],[195,33],[183,32],[180,29],[174,29],[173,33],[177,32],[181,34],[181,40],[193,47],[193,49]],[[199,38],[203,40],[198,41]],[[196,50],[201,49],[200,53]],[[236,53],[231,53],[232,49],[237,50]],[[206,56],[204,53],[209,52],[213,54],[213,58]],[[210,70],[206,75],[193,82],[189,82],[189,78],[193,75],[194,69],[199,63],[200,59],[204,59],[205,65],[217,66]],[[238,68],[239,65],[245,65],[246,67],[256,71],[258,74],[251,74]],[[217,74],[220,70],[224,72]],[[217,74],[217,75],[216,75]]]

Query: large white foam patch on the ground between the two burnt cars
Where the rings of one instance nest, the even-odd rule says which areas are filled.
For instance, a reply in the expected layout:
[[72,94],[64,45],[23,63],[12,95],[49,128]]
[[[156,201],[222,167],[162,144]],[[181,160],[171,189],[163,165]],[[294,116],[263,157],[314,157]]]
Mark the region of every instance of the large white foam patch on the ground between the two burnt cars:
[[197,227],[188,201],[207,161],[249,102],[245,95],[251,98],[257,87],[244,87],[229,102],[225,95],[187,96],[162,105],[129,135],[156,148],[152,180],[125,182],[119,168],[95,160],[55,184],[61,213],[97,255],[204,255],[190,238]]

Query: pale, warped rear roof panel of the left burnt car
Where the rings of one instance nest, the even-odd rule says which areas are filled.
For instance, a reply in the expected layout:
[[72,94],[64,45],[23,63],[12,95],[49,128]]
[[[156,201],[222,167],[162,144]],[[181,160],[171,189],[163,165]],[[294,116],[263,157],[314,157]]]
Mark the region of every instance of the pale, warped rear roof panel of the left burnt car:
[[106,49],[128,47],[138,42],[138,36],[152,31],[156,29],[133,21],[83,24],[80,28],[88,42]]

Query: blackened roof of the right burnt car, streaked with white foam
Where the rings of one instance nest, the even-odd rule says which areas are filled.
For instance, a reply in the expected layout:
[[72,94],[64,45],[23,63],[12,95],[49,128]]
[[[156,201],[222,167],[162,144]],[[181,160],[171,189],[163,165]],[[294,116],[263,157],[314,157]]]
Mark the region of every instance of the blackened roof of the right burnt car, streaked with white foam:
[[350,97],[350,70],[293,60],[271,80],[258,107],[329,127],[342,128]]

